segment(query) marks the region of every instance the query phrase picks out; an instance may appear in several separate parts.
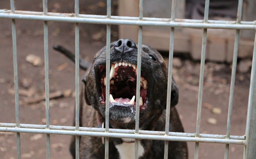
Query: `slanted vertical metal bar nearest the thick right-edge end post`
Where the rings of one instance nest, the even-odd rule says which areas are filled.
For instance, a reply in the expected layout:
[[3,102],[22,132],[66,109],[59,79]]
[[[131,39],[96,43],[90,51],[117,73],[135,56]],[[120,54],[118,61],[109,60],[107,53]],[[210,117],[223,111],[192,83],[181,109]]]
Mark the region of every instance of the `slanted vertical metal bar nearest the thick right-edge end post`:
[[[240,24],[240,22],[241,22],[242,3],[243,3],[243,0],[238,1],[237,22],[236,22],[237,24]],[[230,138],[230,126],[231,126],[231,118],[232,118],[232,110],[233,110],[234,86],[235,86],[235,80],[236,80],[236,67],[237,67],[239,35],[240,35],[240,30],[236,30],[236,36],[235,36],[235,42],[234,42],[233,63],[232,63],[232,73],[231,73],[231,82],[230,82],[229,110],[228,110],[228,113],[227,113],[226,138],[228,138],[228,139]],[[224,158],[228,159],[228,157],[229,157],[229,144],[226,144]]]

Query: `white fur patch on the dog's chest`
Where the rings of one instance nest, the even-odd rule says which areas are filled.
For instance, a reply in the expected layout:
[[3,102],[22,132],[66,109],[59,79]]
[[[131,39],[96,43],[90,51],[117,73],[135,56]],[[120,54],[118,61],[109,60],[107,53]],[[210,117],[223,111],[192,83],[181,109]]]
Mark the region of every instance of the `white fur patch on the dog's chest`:
[[[134,147],[135,143],[127,143],[123,142],[121,144],[116,145],[117,151],[119,152],[120,159],[134,159]],[[144,147],[139,141],[138,147],[138,158],[144,154]]]

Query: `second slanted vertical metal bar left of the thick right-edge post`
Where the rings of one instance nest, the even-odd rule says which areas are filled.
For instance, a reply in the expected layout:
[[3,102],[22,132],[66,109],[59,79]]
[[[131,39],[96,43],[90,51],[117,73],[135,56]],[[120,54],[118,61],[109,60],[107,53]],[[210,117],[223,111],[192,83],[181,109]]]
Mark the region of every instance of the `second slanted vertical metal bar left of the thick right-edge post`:
[[[209,1],[210,0],[206,0],[205,1],[205,6],[204,6],[204,23],[208,22]],[[197,103],[197,117],[196,117],[196,137],[199,137],[199,133],[200,133],[206,41],[207,41],[207,29],[203,29],[201,64],[200,64],[200,79],[199,79],[199,91],[198,91],[198,103]],[[199,142],[196,142],[195,143],[195,156],[194,156],[195,159],[198,159],[198,151],[199,151]]]

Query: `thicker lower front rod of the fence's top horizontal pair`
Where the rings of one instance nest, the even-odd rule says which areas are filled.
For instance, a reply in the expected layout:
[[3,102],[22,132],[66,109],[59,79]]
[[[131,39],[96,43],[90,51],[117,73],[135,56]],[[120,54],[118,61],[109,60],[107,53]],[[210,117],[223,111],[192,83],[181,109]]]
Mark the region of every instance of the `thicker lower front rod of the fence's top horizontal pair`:
[[178,27],[178,28],[212,28],[212,29],[248,29],[256,30],[256,25],[245,24],[210,24],[210,23],[187,23],[176,21],[144,21],[144,20],[123,20],[123,19],[99,19],[99,18],[83,18],[68,16],[44,16],[44,15],[25,15],[0,13],[0,18],[8,19],[27,19],[27,20],[44,20],[59,21],[70,23],[93,23],[93,24],[114,24],[114,25],[141,25],[141,26],[160,26],[160,27]]

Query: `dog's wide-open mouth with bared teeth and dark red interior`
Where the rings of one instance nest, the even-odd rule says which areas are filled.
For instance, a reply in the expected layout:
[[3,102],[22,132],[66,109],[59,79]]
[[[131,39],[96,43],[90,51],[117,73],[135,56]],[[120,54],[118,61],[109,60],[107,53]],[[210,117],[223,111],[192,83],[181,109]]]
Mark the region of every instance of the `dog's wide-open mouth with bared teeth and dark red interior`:
[[[101,84],[100,102],[106,101],[106,65],[99,66]],[[126,62],[115,62],[110,66],[110,96],[109,101],[117,106],[136,106],[137,66]],[[140,77],[140,110],[146,108],[147,80],[141,71]]]

